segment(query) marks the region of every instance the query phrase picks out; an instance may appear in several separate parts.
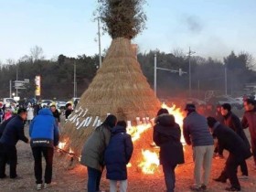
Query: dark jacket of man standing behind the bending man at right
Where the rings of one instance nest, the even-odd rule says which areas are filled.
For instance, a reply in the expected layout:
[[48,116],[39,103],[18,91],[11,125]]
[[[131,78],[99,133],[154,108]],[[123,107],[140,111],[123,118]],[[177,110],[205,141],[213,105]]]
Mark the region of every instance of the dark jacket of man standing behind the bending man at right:
[[243,132],[241,123],[240,123],[240,118],[235,115],[232,112],[229,112],[226,116],[224,116],[224,124],[231,128],[235,133],[237,133],[238,135],[240,135],[240,138],[244,141],[244,143],[246,144],[246,146],[248,148],[251,148],[251,145],[245,135],[245,133]]

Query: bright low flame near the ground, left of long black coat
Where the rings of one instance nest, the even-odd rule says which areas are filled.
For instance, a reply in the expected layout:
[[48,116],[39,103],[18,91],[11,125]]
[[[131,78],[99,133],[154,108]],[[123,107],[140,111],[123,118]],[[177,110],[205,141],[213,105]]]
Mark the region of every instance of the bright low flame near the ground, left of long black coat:
[[154,174],[159,166],[159,158],[155,152],[149,150],[142,151],[144,160],[138,165],[144,174]]

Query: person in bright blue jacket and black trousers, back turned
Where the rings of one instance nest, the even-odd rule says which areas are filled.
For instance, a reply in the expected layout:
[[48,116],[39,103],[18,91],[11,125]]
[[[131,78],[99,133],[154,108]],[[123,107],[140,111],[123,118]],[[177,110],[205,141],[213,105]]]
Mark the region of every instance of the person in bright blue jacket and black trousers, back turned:
[[42,154],[46,160],[44,188],[51,185],[54,146],[59,144],[59,129],[52,112],[45,108],[38,112],[29,127],[30,145],[35,160],[37,190],[42,189]]

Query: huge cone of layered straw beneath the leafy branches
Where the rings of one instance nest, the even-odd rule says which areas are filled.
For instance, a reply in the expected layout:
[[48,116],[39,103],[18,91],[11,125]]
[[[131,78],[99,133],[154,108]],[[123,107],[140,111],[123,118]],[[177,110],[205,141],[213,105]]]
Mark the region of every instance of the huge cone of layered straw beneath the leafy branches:
[[[160,108],[160,102],[143,75],[134,55],[131,40],[123,37],[112,40],[101,69],[80,98],[76,109],[79,108],[88,109],[85,117],[99,116],[101,122],[108,113],[116,115],[118,120],[132,121],[133,125],[136,125],[136,117],[140,117],[141,120],[144,117],[150,119],[155,117],[155,113]],[[70,148],[76,154],[80,154],[83,144],[94,128],[89,126],[78,130],[75,123],[68,121],[65,124],[62,139],[69,138]],[[141,149],[148,148],[151,142],[152,129],[145,133],[134,146],[141,154]],[[136,155],[135,151],[133,155]]]

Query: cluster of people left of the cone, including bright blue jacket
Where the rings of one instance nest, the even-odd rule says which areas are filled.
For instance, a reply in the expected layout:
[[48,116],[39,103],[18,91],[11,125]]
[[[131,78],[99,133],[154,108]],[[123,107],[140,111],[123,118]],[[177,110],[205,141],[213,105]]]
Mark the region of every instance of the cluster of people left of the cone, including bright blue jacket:
[[[71,104],[67,104],[65,117],[72,112]],[[0,179],[5,179],[5,166],[9,165],[9,177],[19,179],[16,174],[17,152],[16,144],[19,140],[30,144],[35,165],[36,188],[40,190],[53,185],[52,165],[54,147],[59,144],[60,113],[56,106],[41,107],[40,104],[27,104],[12,108],[1,109],[0,124]],[[24,127],[29,126],[29,138],[24,133]],[[42,155],[46,161],[45,176],[42,179]]]

